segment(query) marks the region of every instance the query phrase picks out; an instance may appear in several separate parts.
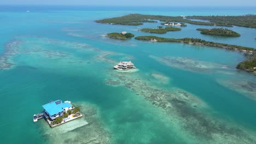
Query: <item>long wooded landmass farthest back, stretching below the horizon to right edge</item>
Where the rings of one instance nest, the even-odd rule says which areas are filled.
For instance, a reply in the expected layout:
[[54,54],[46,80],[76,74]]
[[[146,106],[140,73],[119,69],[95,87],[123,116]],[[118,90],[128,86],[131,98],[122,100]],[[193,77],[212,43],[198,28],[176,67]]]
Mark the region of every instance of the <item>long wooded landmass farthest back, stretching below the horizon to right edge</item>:
[[[196,21],[208,20],[207,21]],[[164,15],[142,15],[142,14],[129,14],[120,17],[113,17],[108,19],[96,20],[98,23],[107,23],[111,25],[143,25],[143,22],[183,22],[193,25],[206,25],[206,26],[241,26],[256,28],[256,15],[241,15],[241,16],[164,16]]]

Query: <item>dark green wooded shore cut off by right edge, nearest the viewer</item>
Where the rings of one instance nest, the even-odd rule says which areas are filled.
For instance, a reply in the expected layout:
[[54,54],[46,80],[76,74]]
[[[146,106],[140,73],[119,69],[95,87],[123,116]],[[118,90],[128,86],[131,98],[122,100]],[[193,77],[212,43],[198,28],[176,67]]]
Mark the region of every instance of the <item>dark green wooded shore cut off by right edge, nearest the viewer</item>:
[[238,63],[236,68],[256,74],[256,52],[249,55],[246,61]]

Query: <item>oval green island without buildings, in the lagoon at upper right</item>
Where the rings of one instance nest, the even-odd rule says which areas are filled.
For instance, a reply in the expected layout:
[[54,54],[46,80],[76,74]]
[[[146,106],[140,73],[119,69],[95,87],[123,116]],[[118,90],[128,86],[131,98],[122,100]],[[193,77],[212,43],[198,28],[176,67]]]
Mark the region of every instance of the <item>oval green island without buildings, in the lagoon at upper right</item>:
[[225,37],[240,37],[241,35],[237,32],[234,32],[227,28],[212,28],[212,29],[206,29],[206,28],[197,28],[197,31],[201,31],[201,34],[208,34],[208,35],[219,35],[219,36],[225,36]]

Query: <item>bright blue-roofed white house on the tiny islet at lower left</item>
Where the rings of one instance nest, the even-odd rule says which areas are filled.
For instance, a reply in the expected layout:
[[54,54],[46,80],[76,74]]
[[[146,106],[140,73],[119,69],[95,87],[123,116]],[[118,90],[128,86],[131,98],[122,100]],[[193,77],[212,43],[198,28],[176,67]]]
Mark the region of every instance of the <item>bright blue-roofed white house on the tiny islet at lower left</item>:
[[54,120],[57,117],[63,116],[64,112],[67,112],[67,110],[73,109],[73,106],[70,101],[62,103],[62,100],[56,100],[43,105],[43,108],[49,118]]

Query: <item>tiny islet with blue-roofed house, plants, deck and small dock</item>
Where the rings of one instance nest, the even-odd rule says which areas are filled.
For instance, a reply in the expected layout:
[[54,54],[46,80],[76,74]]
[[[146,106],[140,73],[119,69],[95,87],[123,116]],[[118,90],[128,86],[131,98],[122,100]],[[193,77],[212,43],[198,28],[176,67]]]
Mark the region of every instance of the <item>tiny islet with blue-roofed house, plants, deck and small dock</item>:
[[33,121],[37,122],[38,119],[44,118],[51,128],[82,117],[80,108],[74,107],[71,101],[50,101],[50,103],[43,105],[43,109],[42,113],[33,116]]

